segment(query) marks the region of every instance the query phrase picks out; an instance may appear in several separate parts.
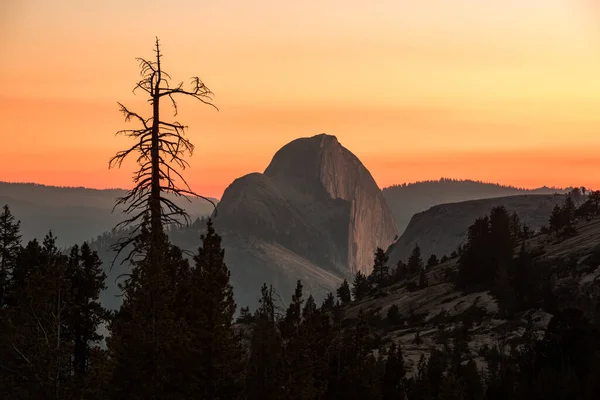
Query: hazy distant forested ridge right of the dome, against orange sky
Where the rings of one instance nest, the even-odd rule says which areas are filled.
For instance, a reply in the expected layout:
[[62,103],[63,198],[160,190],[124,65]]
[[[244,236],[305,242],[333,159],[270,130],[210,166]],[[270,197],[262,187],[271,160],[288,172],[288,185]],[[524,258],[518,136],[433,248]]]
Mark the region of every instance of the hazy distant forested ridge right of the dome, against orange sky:
[[469,200],[497,198],[524,194],[564,194],[570,188],[561,189],[543,186],[525,189],[498,183],[474,181],[470,179],[428,180],[392,185],[382,189],[400,232],[404,232],[413,215],[430,207]]

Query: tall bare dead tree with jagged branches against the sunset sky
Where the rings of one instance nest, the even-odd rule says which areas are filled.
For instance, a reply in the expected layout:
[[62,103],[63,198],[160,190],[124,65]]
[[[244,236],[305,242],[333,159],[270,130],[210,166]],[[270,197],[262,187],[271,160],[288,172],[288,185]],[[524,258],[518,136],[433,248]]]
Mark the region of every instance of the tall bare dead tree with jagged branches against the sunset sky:
[[[118,103],[120,111],[125,115],[125,121],[134,120],[142,127],[117,132],[117,135],[133,138],[135,144],[127,150],[119,151],[109,161],[109,168],[120,167],[130,154],[135,154],[137,156],[136,163],[139,166],[133,176],[135,187],[129,190],[125,196],[118,198],[113,208],[114,211],[117,206],[124,205],[126,206],[124,213],[129,215],[129,218],[116,226],[116,229],[128,228],[128,233],[114,245],[113,249],[117,253],[113,263],[121,251],[129,245],[133,245],[133,248],[123,262],[142,253],[140,245],[136,243],[143,238],[143,231],[149,233],[150,242],[146,241],[146,244],[150,245],[150,248],[157,248],[157,243],[164,235],[164,225],[189,223],[188,213],[168,199],[167,194],[185,198],[187,196],[200,197],[215,206],[212,200],[194,193],[179,172],[189,166],[188,162],[183,159],[184,155],[189,153],[191,156],[194,151],[194,145],[184,136],[187,126],[177,121],[166,122],[160,116],[160,101],[163,98],[165,101],[167,98],[170,100],[174,115],[177,116],[175,97],[179,95],[193,97],[218,110],[212,103],[213,93],[198,77],[191,78],[190,89],[184,89],[183,82],[171,86],[169,84],[171,76],[162,69],[162,54],[158,38],[156,38],[154,51],[156,53],[155,61],[137,58],[142,79],[133,89],[134,93],[141,89],[149,96],[152,116],[143,118]],[[183,187],[178,186],[178,181]],[[189,200],[189,198],[187,199]],[[142,229],[142,226],[145,229]]]

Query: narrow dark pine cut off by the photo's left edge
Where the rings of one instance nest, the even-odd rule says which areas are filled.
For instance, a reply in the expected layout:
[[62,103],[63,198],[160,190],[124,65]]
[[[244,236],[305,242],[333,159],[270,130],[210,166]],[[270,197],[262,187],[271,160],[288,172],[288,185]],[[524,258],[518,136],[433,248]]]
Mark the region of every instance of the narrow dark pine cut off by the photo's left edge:
[[5,205],[0,214],[0,309],[7,301],[12,273],[21,249],[20,221]]

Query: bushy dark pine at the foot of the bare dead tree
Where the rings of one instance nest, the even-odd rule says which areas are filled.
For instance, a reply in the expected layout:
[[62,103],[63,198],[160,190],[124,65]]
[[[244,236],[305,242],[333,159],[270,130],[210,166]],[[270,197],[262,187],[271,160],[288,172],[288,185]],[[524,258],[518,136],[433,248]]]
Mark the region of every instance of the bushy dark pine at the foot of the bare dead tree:
[[[147,236],[139,248],[151,246]],[[181,250],[163,235],[159,248],[135,261],[122,285],[123,304],[107,339],[113,363],[108,387],[114,399],[187,399],[194,394],[189,364],[190,334],[185,319],[190,268]],[[156,258],[160,257],[160,258]],[[156,262],[158,261],[158,263]]]

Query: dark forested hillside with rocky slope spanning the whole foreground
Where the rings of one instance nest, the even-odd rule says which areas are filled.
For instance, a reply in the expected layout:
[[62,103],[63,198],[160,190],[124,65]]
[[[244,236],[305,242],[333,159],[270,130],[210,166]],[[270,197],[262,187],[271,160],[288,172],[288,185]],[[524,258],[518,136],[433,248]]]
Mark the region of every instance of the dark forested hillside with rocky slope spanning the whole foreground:
[[50,235],[25,244],[5,208],[0,383],[32,399],[595,399],[598,199],[577,208],[567,197],[544,233],[494,208],[441,262],[415,253],[390,267],[378,249],[372,274],[322,304],[301,282],[286,305],[264,285],[258,309],[242,308],[236,323],[208,221],[191,264],[164,242],[160,319],[140,321],[152,301],[143,286],[105,311],[89,246],[61,254]]

